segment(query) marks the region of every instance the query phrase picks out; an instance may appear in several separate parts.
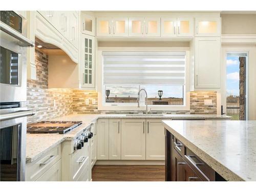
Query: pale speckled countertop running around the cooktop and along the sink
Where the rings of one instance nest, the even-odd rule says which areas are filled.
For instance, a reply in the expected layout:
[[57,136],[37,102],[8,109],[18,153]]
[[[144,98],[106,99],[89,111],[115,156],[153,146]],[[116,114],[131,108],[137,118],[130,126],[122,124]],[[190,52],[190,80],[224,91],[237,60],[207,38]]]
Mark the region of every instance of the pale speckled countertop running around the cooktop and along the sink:
[[160,118],[160,119],[229,119],[229,116],[223,115],[168,115],[163,116],[126,116],[125,114],[71,114],[51,120],[63,121],[73,120],[82,121],[82,124],[76,127],[74,130],[67,134],[27,134],[27,145],[26,145],[26,162],[31,163],[42,155],[47,153],[53,147],[61,143],[63,140],[74,139],[77,135],[83,132],[83,130],[91,124],[91,122],[98,118]]

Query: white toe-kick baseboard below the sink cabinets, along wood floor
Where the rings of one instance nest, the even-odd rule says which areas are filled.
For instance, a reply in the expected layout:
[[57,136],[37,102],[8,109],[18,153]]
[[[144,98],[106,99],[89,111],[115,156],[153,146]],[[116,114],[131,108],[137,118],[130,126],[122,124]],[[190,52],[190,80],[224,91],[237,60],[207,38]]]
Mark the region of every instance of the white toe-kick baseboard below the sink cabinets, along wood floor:
[[164,165],[164,160],[97,160],[95,165]]

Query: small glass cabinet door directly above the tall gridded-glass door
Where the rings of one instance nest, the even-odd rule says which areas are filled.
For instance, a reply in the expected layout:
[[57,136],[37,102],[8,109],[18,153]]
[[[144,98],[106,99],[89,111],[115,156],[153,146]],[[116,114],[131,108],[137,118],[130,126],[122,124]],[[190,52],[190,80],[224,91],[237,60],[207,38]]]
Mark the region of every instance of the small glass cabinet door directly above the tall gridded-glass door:
[[81,13],[81,31],[84,34],[95,36],[95,18]]

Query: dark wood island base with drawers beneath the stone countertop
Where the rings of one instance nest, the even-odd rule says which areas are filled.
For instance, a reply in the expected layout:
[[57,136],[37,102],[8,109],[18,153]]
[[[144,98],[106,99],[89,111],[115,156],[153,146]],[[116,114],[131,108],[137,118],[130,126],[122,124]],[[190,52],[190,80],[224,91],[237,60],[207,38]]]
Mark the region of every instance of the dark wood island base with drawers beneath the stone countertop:
[[226,181],[165,129],[165,181]]

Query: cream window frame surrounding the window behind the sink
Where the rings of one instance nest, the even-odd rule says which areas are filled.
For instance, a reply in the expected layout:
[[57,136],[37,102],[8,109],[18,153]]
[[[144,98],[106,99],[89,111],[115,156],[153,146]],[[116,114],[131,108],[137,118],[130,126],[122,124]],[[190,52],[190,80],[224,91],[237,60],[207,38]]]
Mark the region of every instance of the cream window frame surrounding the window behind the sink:
[[[185,85],[183,86],[183,105],[148,105],[148,109],[152,111],[189,111],[190,110],[190,94],[189,94],[189,47],[99,47],[97,51],[97,88],[98,88],[98,110],[111,111],[138,111],[145,110],[146,105],[140,102],[140,108],[137,103],[135,105],[105,105],[103,99],[105,99],[105,93],[103,92],[103,56],[104,51],[184,51],[186,52],[185,61]],[[142,94],[142,93],[141,93]]]

